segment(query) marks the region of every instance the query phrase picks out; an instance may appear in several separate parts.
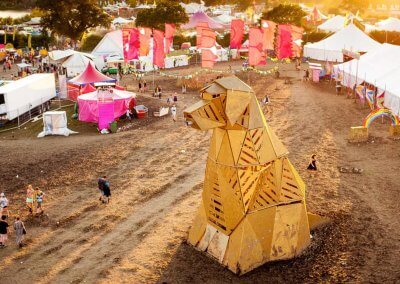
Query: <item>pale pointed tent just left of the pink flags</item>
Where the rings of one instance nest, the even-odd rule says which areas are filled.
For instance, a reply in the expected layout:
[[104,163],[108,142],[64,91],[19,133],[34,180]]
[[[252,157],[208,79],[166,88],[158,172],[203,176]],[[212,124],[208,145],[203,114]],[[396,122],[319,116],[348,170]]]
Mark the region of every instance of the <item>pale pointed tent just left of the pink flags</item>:
[[112,54],[118,54],[123,58],[124,52],[122,44],[122,31],[116,30],[107,33],[93,49],[92,54],[103,57],[107,57]]

